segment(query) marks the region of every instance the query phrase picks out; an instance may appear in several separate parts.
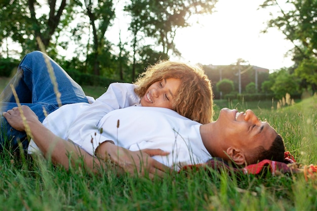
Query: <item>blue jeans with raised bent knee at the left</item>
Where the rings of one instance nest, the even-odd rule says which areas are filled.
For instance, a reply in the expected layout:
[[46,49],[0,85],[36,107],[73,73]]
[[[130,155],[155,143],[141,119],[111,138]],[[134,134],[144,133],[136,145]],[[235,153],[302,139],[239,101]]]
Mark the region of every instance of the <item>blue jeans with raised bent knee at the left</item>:
[[[50,61],[54,71],[60,98],[56,97],[54,85],[48,71],[47,61]],[[81,88],[56,62],[39,51],[27,54],[18,66],[16,75],[0,95],[0,151],[5,148],[16,149],[21,143],[23,149],[28,146],[25,132],[12,128],[3,117],[2,112],[17,106],[10,84],[15,87],[21,105],[29,106],[43,122],[46,115],[58,109],[61,105],[71,103],[88,103]],[[58,100],[59,99],[59,100]],[[59,103],[60,102],[60,103]],[[45,111],[44,111],[45,110]]]

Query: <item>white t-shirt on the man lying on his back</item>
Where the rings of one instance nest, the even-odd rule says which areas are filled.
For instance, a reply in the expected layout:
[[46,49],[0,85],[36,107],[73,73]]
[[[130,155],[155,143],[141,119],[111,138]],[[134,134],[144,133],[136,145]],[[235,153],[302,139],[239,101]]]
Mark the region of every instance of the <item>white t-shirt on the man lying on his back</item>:
[[93,136],[89,142],[73,142],[91,155],[106,140],[132,151],[162,149],[170,155],[153,158],[178,170],[183,165],[202,163],[211,158],[203,144],[200,126],[201,123],[171,109],[131,106],[106,114],[96,131],[100,134],[102,128],[101,136]]

